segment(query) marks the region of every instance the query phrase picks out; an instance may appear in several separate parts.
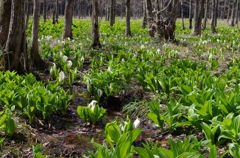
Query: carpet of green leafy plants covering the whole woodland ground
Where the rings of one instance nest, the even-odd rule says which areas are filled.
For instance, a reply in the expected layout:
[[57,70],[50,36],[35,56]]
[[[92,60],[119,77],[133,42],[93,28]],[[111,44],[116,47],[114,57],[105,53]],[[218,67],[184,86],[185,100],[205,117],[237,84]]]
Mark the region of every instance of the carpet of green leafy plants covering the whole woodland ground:
[[[207,28],[197,37],[177,21],[176,41],[168,42],[149,37],[141,21],[131,22],[130,37],[124,21],[101,21],[102,47],[93,49],[91,22],[74,20],[73,39],[63,40],[62,20],[41,21],[40,55],[49,69],[0,72],[0,155],[239,158],[240,31],[219,25],[216,34]],[[74,149],[65,152],[31,134],[41,129],[48,138],[48,124],[60,118],[77,123],[49,135],[90,129],[83,136],[91,147],[71,139]],[[92,142],[96,135],[103,138]]]

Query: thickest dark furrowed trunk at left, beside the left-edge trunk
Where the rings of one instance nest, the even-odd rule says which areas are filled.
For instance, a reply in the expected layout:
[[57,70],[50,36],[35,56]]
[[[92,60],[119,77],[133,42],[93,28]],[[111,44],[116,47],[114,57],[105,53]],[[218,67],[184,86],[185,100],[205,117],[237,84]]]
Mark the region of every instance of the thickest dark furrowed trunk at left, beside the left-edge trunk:
[[12,0],[11,20],[5,51],[5,69],[19,73],[27,71],[24,0]]

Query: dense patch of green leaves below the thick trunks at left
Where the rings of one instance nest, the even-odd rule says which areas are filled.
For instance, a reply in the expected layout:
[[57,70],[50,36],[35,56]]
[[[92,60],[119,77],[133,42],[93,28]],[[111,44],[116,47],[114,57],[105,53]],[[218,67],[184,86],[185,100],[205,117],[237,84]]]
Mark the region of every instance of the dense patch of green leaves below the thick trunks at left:
[[0,109],[15,109],[31,121],[47,118],[56,111],[65,113],[71,96],[56,83],[44,84],[32,75],[0,73]]

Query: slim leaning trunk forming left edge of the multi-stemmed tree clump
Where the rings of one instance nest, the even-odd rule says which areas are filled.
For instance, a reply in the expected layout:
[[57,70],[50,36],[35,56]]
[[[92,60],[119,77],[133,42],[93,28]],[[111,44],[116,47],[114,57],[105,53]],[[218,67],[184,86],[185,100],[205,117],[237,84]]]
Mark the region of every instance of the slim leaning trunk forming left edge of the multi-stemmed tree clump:
[[151,0],[146,0],[146,11],[147,11],[147,24],[148,24],[148,34],[154,37],[156,28],[153,27],[154,17]]

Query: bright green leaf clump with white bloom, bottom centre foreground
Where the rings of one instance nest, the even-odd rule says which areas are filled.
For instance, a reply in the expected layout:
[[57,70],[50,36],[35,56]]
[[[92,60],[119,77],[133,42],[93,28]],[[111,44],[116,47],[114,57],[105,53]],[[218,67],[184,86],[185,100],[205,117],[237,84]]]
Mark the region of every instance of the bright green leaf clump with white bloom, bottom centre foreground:
[[139,120],[132,123],[129,118],[126,121],[122,120],[120,124],[117,119],[108,123],[105,127],[105,140],[110,144],[110,148],[106,142],[103,145],[91,143],[97,151],[95,153],[89,151],[89,158],[132,158],[134,155],[133,142],[141,133],[141,129],[138,128],[139,123]]

